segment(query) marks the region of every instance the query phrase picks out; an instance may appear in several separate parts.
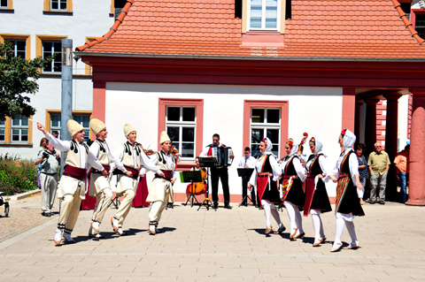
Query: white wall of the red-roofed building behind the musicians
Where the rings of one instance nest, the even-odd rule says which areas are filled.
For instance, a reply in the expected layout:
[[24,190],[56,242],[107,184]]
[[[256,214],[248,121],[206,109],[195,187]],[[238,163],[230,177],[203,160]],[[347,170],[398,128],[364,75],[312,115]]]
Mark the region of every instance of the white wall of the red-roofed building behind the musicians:
[[[230,194],[242,194],[237,163],[243,156],[243,101],[282,100],[289,103],[288,135],[296,142],[303,133],[321,140],[328,164],[334,166],[341,150],[337,143],[342,122],[342,88],[245,87],[213,85],[106,83],[105,122],[112,150],[126,141],[123,126],[137,129],[137,140],[143,147],[158,149],[158,99],[188,98],[204,100],[203,147],[212,143],[213,133],[232,147],[235,160],[229,167]],[[319,106],[326,103],[326,107]],[[95,105],[96,107],[96,105]],[[310,138],[309,137],[309,138]],[[281,146],[286,142],[281,141]],[[305,154],[309,155],[308,145]],[[284,156],[284,153],[281,153]],[[148,176],[148,183],[151,175]],[[176,183],[174,192],[184,193],[187,184]],[[221,193],[221,188],[219,188]],[[329,184],[329,196],[335,196],[335,185]],[[234,199],[234,202],[237,201]]]

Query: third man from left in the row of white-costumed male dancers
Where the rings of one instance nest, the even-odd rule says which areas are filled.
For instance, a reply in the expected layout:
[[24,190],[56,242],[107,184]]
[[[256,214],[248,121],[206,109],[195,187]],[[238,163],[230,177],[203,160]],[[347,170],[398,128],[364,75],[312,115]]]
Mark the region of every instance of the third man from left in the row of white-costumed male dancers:
[[133,199],[135,198],[137,177],[139,175],[141,164],[143,164],[143,166],[148,170],[154,171],[158,175],[164,177],[164,173],[152,164],[149,157],[144,154],[143,149],[137,146],[135,141],[137,138],[135,127],[130,124],[126,124],[124,126],[124,134],[127,137],[127,142],[120,147],[120,151],[117,156],[121,163],[124,164],[126,170],[131,172],[131,176],[128,176],[127,173],[122,174],[122,172],[117,171],[119,173],[117,180],[117,193],[122,194],[124,198],[120,203],[120,208],[111,218],[113,231],[117,232],[120,236],[127,235],[126,232],[122,231],[122,225],[131,209],[131,202],[133,202]]

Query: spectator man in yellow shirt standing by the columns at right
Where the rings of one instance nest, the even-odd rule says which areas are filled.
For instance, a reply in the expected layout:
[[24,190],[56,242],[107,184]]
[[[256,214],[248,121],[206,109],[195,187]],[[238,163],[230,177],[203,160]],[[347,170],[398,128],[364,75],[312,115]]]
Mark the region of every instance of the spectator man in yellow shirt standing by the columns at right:
[[[379,193],[379,203],[384,204],[390,157],[383,151],[381,143],[375,143],[375,151],[370,153],[367,165],[370,171],[370,203],[376,202]],[[378,187],[379,192],[376,191]]]

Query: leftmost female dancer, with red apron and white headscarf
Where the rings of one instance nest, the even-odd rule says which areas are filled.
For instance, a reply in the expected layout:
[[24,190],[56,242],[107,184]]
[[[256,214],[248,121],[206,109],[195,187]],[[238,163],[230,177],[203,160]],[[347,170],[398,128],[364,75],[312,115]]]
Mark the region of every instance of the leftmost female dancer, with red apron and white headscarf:
[[281,204],[281,196],[277,188],[279,177],[279,164],[277,164],[276,157],[272,154],[272,141],[265,138],[259,142],[259,152],[262,154],[257,159],[255,164],[255,170],[251,174],[250,182],[248,182],[248,190],[251,193],[253,186],[257,187],[259,193],[259,199],[261,205],[264,208],[266,215],[266,234],[272,232],[272,224],[270,222],[270,216],[274,217],[279,229],[274,234],[280,234],[285,231],[279,212],[276,210],[274,204]]

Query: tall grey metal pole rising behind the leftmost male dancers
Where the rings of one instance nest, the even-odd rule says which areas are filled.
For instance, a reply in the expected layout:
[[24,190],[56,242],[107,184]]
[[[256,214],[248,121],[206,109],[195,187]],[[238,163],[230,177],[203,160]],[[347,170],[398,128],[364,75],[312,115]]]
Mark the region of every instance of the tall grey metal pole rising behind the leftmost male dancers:
[[[73,40],[62,39],[62,100],[60,113],[60,139],[71,140],[68,127],[69,119],[73,118]],[[60,173],[64,170],[64,158],[61,154],[62,162]]]

